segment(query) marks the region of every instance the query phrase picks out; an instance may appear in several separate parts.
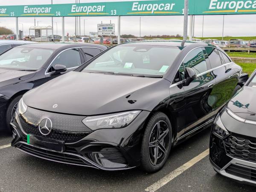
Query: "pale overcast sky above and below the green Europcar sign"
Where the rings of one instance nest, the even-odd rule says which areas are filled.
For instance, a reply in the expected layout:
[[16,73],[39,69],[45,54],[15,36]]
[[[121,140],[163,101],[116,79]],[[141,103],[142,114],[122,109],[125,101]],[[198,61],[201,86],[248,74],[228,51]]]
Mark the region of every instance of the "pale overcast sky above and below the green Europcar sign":
[[[122,0],[80,0],[80,3],[91,2],[113,2]],[[128,1],[128,0],[126,0]],[[76,0],[53,0],[53,4],[75,3]],[[51,0],[0,0],[0,6],[11,5],[35,5],[35,4],[51,4]],[[97,32],[98,23],[115,23],[117,35],[117,16],[112,17],[80,17],[81,19],[81,35],[89,35],[89,32]],[[84,19],[85,29],[84,29]],[[51,17],[36,17],[36,25],[51,26]],[[61,17],[53,17],[53,21],[57,22],[58,34],[61,35]],[[15,29],[15,17],[0,17],[0,26],[6,26],[9,29]],[[23,23],[24,35],[29,34],[29,27],[34,26],[34,17],[19,17],[19,23]],[[222,36],[223,15],[207,15],[204,16],[204,37],[221,37]],[[189,26],[189,24],[188,24]],[[56,34],[56,23],[53,23],[54,34]],[[19,24],[22,30],[22,25]],[[195,37],[202,37],[203,16],[195,16]],[[65,35],[75,33],[75,17],[65,17]],[[121,35],[134,34],[140,35],[140,16],[121,16]],[[143,16],[141,18],[141,36],[144,35],[183,35],[183,16]],[[189,34],[189,29],[188,29]],[[256,36],[256,14],[247,15],[225,15],[224,36],[232,37]]]

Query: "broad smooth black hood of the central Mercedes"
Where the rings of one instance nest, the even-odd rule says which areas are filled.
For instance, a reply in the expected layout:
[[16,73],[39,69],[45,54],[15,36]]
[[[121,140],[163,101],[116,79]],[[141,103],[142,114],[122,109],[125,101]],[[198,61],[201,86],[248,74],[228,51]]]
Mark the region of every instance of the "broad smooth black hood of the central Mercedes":
[[151,111],[169,99],[169,86],[161,78],[69,72],[26,93],[23,100],[36,109],[73,115]]

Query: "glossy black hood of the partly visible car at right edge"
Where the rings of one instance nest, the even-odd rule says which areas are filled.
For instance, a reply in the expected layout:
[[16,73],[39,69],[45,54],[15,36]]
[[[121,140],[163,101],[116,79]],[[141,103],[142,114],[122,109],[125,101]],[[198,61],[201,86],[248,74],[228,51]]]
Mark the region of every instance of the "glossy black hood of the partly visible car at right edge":
[[256,87],[243,86],[228,103],[228,108],[236,115],[256,120]]

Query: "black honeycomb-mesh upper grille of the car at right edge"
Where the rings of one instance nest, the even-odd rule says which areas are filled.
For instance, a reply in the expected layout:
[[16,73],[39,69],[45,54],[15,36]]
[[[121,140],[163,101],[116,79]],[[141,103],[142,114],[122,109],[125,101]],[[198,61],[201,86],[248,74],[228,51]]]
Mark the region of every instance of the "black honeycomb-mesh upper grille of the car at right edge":
[[224,140],[227,154],[234,158],[256,162],[256,141],[231,135]]

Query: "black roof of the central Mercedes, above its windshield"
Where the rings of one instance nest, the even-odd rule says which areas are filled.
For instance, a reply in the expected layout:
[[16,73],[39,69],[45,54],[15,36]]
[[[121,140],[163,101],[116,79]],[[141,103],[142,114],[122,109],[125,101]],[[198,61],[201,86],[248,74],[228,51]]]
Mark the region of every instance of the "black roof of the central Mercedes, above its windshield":
[[186,41],[184,45],[182,46],[182,40],[145,40],[145,41],[134,41],[130,43],[122,43],[120,45],[131,45],[131,44],[138,44],[138,45],[151,45],[151,46],[173,46],[173,47],[186,47],[192,44],[195,44],[195,47],[197,46],[211,46],[216,47],[210,43],[205,42],[198,42],[198,41]]

